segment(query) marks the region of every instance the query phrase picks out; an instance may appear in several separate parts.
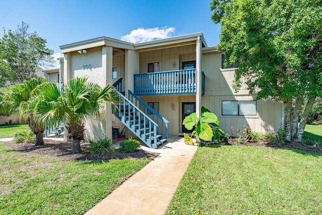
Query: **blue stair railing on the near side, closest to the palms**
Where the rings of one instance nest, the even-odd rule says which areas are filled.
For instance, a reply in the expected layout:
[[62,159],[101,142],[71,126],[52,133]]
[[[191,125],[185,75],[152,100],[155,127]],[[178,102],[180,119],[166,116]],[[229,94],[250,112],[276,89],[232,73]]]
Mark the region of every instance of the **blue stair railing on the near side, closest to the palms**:
[[157,147],[158,125],[119,92],[120,103],[115,116],[148,147]]

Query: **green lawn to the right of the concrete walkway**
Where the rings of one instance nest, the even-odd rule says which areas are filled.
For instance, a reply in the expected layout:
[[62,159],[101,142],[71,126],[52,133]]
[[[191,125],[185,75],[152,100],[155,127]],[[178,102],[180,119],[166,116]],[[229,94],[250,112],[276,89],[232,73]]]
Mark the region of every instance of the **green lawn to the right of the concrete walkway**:
[[322,155],[200,147],[166,214],[322,214]]

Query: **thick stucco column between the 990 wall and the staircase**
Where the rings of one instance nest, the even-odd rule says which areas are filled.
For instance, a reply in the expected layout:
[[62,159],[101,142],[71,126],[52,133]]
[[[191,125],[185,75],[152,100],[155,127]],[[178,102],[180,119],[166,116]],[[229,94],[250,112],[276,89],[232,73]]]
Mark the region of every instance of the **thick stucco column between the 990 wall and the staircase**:
[[[105,86],[108,84],[112,84],[112,67],[113,67],[113,47],[111,46],[103,46],[102,47],[102,67],[103,71],[105,71]],[[104,77],[104,76],[103,76]],[[105,87],[101,86],[101,87]],[[112,107],[111,104],[108,103],[106,107],[106,117],[105,120],[102,121],[103,128],[105,127],[105,135],[112,138]]]

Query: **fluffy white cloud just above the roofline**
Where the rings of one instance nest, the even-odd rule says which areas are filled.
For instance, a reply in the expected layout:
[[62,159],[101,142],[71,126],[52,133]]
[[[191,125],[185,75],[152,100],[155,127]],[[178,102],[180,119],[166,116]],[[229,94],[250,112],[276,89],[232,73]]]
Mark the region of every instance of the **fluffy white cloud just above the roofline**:
[[121,36],[121,40],[131,43],[147,42],[155,39],[164,39],[172,36],[175,32],[173,27],[162,27],[162,28],[138,28],[132,30],[130,34]]

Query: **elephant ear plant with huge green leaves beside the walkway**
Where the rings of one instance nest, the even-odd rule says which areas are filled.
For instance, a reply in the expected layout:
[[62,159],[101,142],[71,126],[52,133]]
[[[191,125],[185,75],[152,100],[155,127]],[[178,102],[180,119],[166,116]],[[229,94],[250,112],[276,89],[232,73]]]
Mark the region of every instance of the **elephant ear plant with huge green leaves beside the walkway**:
[[193,135],[198,136],[201,140],[201,144],[203,145],[212,141],[217,141],[218,143],[220,141],[221,134],[224,133],[220,128],[218,128],[220,121],[217,116],[205,107],[201,108],[201,116],[198,122],[197,113],[192,113],[183,120],[183,125],[185,125],[188,130],[195,128],[191,133],[191,137],[186,133],[184,134],[186,144],[192,143]]

